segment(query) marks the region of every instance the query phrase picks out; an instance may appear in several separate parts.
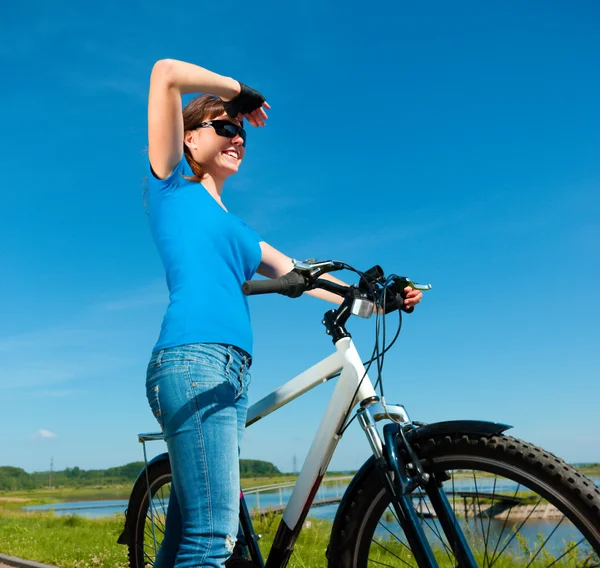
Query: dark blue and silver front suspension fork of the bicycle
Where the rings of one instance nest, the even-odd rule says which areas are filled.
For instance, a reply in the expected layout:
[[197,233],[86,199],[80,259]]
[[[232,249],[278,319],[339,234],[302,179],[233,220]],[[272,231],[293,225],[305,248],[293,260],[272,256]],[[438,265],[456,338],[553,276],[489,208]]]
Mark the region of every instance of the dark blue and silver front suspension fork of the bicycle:
[[[381,407],[379,404],[377,407],[382,410],[376,410],[375,413],[372,413],[369,406],[361,407],[358,420],[373,450],[377,470],[391,497],[396,517],[417,565],[420,568],[436,568],[438,565],[411,497],[412,491],[421,486],[429,497],[458,565],[461,568],[477,568],[454,510],[442,488],[444,480],[423,471],[419,458],[406,440],[404,428],[412,426],[412,423],[404,407]],[[375,426],[376,421],[382,418],[399,421],[384,426],[383,442]]]

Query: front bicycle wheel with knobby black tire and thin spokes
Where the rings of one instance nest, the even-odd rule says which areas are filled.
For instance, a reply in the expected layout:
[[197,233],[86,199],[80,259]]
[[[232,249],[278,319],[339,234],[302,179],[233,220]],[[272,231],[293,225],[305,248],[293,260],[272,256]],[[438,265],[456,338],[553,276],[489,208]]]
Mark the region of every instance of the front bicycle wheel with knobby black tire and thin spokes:
[[[478,566],[600,566],[600,491],[556,456],[507,436],[441,436],[414,444],[443,488]],[[417,566],[380,474],[340,505],[330,568]],[[412,495],[439,566],[459,562],[425,492]]]

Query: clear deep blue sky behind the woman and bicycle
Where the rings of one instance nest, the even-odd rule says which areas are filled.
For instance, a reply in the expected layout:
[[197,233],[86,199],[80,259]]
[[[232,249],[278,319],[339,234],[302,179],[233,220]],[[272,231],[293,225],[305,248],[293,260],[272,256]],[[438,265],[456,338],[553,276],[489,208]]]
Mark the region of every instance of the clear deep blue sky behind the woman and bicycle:
[[[167,294],[142,192],[165,57],[271,104],[223,195],[265,240],[433,285],[386,359],[390,402],[600,461],[598,4],[165,6],[0,8],[0,465],[120,465],[156,430]],[[253,401],[332,346],[322,301],[251,309]],[[352,323],[366,358],[374,320]],[[249,429],[242,457],[301,463],[332,386]],[[367,455],[351,428],[332,468]]]

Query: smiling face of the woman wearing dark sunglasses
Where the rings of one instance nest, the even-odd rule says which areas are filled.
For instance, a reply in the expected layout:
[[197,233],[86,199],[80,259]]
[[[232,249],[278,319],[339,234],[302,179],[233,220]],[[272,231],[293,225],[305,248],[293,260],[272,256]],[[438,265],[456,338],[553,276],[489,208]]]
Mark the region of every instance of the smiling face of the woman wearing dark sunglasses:
[[[222,114],[212,120],[227,120],[241,126],[241,121]],[[244,157],[243,140],[238,135],[235,138],[219,136],[212,126],[188,130],[184,136],[193,158],[212,177],[224,179],[237,173]]]

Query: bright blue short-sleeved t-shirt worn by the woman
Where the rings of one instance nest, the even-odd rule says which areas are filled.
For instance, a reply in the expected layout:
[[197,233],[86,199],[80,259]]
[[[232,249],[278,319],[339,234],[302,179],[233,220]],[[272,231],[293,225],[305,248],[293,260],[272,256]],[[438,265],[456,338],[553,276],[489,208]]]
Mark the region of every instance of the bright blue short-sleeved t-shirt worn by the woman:
[[225,211],[181,158],[157,179],[150,168],[150,228],[167,273],[169,306],[154,351],[189,343],[227,343],[252,353],[242,284],[260,264],[259,236]]

